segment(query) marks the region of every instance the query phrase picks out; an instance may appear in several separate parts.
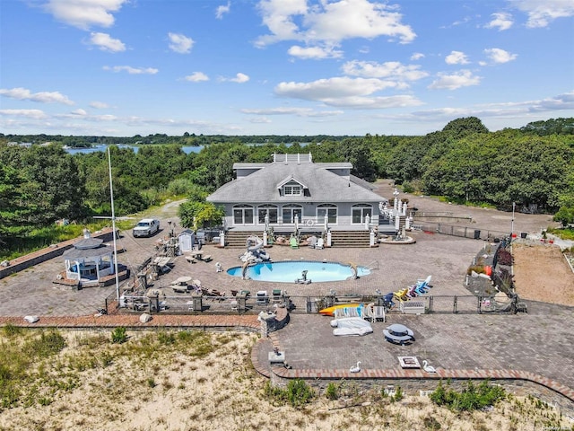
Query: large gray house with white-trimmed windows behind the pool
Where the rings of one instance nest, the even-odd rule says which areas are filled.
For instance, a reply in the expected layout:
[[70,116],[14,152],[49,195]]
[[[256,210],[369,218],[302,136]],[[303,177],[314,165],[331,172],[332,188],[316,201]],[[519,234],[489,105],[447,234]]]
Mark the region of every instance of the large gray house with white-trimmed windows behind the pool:
[[273,163],[234,163],[233,169],[236,179],[207,197],[224,208],[227,229],[369,231],[378,225],[379,204],[387,204],[369,182],[351,174],[351,163],[274,154]]

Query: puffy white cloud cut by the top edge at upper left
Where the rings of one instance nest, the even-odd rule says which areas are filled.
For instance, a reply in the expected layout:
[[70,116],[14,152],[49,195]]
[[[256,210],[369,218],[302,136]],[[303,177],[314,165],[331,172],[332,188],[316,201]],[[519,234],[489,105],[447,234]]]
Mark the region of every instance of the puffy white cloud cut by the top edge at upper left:
[[42,7],[58,21],[82,30],[110,27],[114,15],[127,0],[48,0]]

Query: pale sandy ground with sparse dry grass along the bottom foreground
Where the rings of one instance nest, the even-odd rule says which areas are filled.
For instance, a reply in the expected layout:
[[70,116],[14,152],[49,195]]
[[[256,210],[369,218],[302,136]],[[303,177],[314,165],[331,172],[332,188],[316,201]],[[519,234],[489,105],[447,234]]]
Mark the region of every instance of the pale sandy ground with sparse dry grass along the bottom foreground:
[[[392,402],[380,397],[380,388],[364,393],[352,382],[342,383],[338,400],[318,391],[310,404],[293,408],[265,395],[267,379],[249,362],[258,338],[252,333],[202,332],[182,341],[177,335],[170,339],[169,332],[135,332],[122,345],[109,342],[109,331],[63,334],[68,347],[30,370],[18,407],[0,407],[0,429],[416,431],[574,425],[535,399],[510,397],[488,411],[456,414],[427,396]],[[3,334],[0,342],[17,339]]]

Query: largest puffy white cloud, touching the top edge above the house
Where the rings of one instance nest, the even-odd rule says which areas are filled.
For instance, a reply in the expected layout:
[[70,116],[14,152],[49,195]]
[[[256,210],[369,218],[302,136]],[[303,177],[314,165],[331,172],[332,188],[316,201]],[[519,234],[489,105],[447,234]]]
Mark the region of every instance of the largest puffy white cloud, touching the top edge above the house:
[[312,7],[306,0],[261,0],[258,8],[271,31],[257,39],[260,47],[281,40],[334,45],[346,39],[379,36],[409,43],[416,37],[413,29],[401,22],[403,15],[395,12],[395,7],[368,0],[325,1]]

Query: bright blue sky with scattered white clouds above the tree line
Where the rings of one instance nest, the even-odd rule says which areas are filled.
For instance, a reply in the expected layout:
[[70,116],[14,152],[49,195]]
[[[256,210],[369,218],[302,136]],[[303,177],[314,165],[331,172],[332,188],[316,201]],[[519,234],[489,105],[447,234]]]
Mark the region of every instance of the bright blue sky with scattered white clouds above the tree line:
[[2,0],[0,132],[423,135],[574,117],[574,0]]

